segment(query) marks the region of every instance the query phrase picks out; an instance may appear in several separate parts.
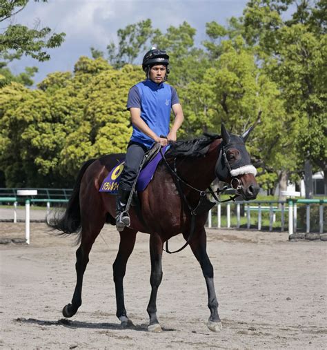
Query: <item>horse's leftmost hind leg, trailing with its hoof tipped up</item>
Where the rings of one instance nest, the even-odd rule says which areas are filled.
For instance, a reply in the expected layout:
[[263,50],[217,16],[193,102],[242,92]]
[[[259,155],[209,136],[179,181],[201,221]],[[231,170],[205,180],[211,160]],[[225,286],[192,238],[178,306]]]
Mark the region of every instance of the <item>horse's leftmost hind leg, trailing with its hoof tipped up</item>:
[[72,296],[72,302],[63,307],[64,317],[72,317],[73,315],[75,315],[75,313],[77,313],[77,310],[81,306],[83,275],[88,264],[88,255],[104,223],[105,216],[101,215],[100,213],[97,213],[96,211],[92,213],[92,217],[90,217],[90,215],[82,216],[81,244],[76,251],[75,264],[77,283],[75,286],[74,295]]

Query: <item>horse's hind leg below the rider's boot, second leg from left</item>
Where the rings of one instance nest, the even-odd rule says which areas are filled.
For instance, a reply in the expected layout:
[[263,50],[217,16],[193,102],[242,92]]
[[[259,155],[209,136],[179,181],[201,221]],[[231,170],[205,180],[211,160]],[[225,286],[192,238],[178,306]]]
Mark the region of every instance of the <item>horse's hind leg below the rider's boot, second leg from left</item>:
[[123,278],[126,273],[126,264],[130,254],[135,246],[135,238],[137,231],[131,229],[124,229],[120,234],[119,251],[116,260],[112,265],[114,282],[116,289],[116,303],[117,303],[117,318],[121,321],[121,326],[126,327],[132,325],[132,321],[127,317],[125,302],[123,300]]

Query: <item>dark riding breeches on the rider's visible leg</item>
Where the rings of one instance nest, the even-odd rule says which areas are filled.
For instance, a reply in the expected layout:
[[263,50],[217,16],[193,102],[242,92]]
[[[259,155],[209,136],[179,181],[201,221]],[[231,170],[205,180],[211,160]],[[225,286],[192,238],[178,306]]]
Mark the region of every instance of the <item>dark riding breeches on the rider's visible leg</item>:
[[119,181],[120,188],[125,191],[130,191],[132,189],[133,182],[139,171],[139,165],[147,151],[148,148],[143,146],[143,144],[132,141],[128,144],[125,164],[123,165],[123,171]]

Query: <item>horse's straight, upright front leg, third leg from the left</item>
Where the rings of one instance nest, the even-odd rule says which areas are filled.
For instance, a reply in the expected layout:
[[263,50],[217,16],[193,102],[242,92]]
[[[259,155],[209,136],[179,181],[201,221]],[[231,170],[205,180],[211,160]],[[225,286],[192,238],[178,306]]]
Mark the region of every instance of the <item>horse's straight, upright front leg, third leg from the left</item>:
[[162,280],[162,249],[164,243],[158,233],[150,234],[150,258],[151,258],[151,295],[148,304],[148,314],[150,317],[150,323],[148,325],[148,331],[161,332],[159,321],[157,319],[157,292]]

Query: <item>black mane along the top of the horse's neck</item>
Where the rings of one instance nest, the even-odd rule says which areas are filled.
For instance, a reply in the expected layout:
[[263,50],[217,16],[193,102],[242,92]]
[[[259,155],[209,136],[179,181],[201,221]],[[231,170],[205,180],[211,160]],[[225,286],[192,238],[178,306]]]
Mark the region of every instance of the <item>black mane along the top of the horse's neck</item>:
[[204,133],[198,139],[177,141],[170,144],[167,155],[170,157],[202,157],[215,139],[220,139],[220,135]]

